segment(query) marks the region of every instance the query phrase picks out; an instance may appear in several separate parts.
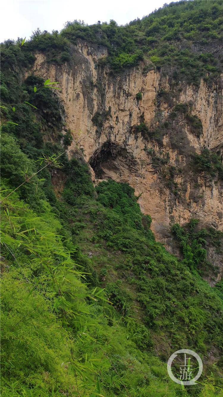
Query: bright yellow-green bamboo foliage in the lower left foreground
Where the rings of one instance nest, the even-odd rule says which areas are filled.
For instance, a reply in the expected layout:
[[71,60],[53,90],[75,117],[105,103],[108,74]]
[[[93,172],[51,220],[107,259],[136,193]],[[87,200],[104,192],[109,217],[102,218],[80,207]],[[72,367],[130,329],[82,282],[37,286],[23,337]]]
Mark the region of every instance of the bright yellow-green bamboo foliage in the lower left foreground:
[[41,218],[15,194],[3,206],[2,395],[91,395],[99,387],[109,396],[166,387],[177,395],[178,386],[163,381],[165,364],[138,347],[150,345],[147,328],[130,316],[123,324],[127,296],[107,285],[119,314],[81,282],[50,206]]

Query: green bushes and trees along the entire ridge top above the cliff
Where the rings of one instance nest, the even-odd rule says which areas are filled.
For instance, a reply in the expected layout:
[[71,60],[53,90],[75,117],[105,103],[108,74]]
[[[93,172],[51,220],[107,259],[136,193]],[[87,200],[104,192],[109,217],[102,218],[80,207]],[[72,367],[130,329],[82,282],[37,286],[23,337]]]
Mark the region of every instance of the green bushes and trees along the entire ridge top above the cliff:
[[[145,73],[154,67],[168,71],[174,81],[187,80],[197,85],[203,77],[212,83],[221,73],[221,0],[196,0],[171,3],[168,6],[125,26],[98,21],[88,26],[81,21],[67,22],[58,33],[38,29],[23,46],[23,54],[8,40],[2,56],[13,52],[23,66],[33,62],[33,52],[48,55],[49,62],[64,63],[72,59],[71,43],[78,39],[108,49],[101,65],[110,64],[114,71],[135,66],[145,60]],[[214,54],[213,54],[214,52]],[[10,62],[9,60],[7,62]],[[13,59],[11,59],[13,62]]]

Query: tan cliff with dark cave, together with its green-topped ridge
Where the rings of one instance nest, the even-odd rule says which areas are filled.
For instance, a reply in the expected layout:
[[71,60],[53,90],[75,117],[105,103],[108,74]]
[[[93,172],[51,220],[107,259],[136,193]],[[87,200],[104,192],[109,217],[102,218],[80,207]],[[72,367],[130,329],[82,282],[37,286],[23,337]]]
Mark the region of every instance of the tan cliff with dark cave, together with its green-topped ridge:
[[[35,54],[29,73],[60,82],[63,128],[80,141],[96,179],[142,193],[141,209],[171,252],[174,222],[199,218],[223,230],[221,11],[222,2],[180,2],[125,27],[69,23],[59,35],[36,32],[23,51]],[[143,58],[115,68],[127,51],[120,37],[128,43],[130,32],[129,54],[140,49]],[[160,48],[162,67],[152,55]],[[221,258],[214,260],[221,275]]]

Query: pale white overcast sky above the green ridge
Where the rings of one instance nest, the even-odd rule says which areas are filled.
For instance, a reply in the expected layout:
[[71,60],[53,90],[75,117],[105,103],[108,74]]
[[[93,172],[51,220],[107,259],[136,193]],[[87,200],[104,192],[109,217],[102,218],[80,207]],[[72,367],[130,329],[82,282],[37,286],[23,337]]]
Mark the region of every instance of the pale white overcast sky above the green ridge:
[[38,27],[60,31],[66,21],[74,19],[84,20],[88,25],[114,19],[118,25],[124,25],[164,3],[165,0],[2,0],[0,41],[25,36],[29,39]]

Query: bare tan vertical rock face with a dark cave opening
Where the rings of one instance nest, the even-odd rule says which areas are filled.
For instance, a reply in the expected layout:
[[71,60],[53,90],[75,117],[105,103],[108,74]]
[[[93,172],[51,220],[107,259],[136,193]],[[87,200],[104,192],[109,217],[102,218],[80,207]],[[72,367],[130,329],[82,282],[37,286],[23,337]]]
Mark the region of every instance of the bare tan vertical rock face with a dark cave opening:
[[[60,82],[56,94],[65,109],[66,128],[89,163],[95,183],[107,178],[128,182],[141,195],[138,202],[151,215],[156,238],[167,246],[173,222],[184,224],[198,217],[223,230],[223,186],[217,177],[210,180],[194,173],[191,161],[191,155],[204,146],[222,150],[223,79],[211,88],[204,81],[199,87],[183,81],[174,85],[162,71],[144,73],[143,63],[114,74],[100,66],[106,54],[106,48],[80,41],[73,46],[72,63],[49,65],[43,54],[36,54],[32,70]],[[137,93],[142,99],[137,100]],[[157,133],[160,122],[168,120],[179,102],[189,104],[191,115],[200,119],[200,134],[182,115],[171,121],[161,140],[136,131],[135,126],[143,123]],[[174,189],[164,177],[170,168],[180,170],[172,175]]]

